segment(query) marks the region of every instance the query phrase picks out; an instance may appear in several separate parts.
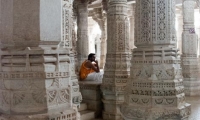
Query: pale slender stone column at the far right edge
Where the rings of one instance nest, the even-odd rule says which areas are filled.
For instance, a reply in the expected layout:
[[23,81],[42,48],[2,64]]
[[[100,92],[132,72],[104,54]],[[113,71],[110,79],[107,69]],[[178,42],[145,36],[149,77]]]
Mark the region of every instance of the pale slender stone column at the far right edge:
[[182,70],[185,94],[200,95],[200,76],[198,67],[198,36],[194,26],[195,0],[183,0]]

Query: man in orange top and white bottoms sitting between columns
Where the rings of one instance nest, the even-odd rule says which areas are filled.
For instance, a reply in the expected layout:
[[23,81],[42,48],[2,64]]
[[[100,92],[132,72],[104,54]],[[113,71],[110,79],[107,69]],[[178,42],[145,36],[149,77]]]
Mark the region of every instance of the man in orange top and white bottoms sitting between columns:
[[99,70],[98,61],[95,60],[95,54],[90,53],[80,68],[80,80],[101,81],[103,74]]

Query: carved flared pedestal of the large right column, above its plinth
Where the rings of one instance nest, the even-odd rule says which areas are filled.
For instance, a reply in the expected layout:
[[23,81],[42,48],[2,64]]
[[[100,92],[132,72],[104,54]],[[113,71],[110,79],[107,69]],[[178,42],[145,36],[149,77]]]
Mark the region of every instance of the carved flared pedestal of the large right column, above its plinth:
[[[136,48],[133,50],[132,67],[125,94],[125,103],[129,106],[133,105],[134,108],[123,105],[121,111],[124,118],[129,116],[125,116],[126,109],[137,111],[139,107],[143,107],[143,110],[150,108],[152,111],[155,109],[155,114],[157,114],[160,110],[162,111],[164,106],[168,108],[176,106],[177,108],[173,109],[177,111],[180,105],[185,104],[189,107],[185,103],[178,51],[175,48],[168,49],[167,47],[156,48],[154,52],[152,50],[151,52],[149,51],[149,48]],[[187,107],[185,109],[188,110]],[[185,116],[188,115],[189,113],[185,114]],[[134,115],[130,116],[131,119],[138,119]],[[146,117],[150,117],[149,114]],[[158,119],[155,115],[151,117]],[[166,118],[171,117],[168,116]],[[153,118],[149,119],[154,120]]]

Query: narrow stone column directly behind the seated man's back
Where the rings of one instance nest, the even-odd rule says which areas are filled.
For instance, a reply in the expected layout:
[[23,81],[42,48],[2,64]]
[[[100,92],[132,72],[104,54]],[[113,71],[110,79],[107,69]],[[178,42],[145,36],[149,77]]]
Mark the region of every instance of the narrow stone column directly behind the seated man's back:
[[87,0],[77,2],[77,28],[78,66],[80,66],[89,54]]

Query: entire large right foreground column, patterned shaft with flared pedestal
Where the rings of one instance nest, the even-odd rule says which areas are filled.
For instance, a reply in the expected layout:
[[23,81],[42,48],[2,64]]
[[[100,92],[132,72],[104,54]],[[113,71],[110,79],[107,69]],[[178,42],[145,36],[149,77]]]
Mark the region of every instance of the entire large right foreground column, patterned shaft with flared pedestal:
[[188,118],[176,48],[175,0],[136,0],[135,45],[121,112],[125,120]]

